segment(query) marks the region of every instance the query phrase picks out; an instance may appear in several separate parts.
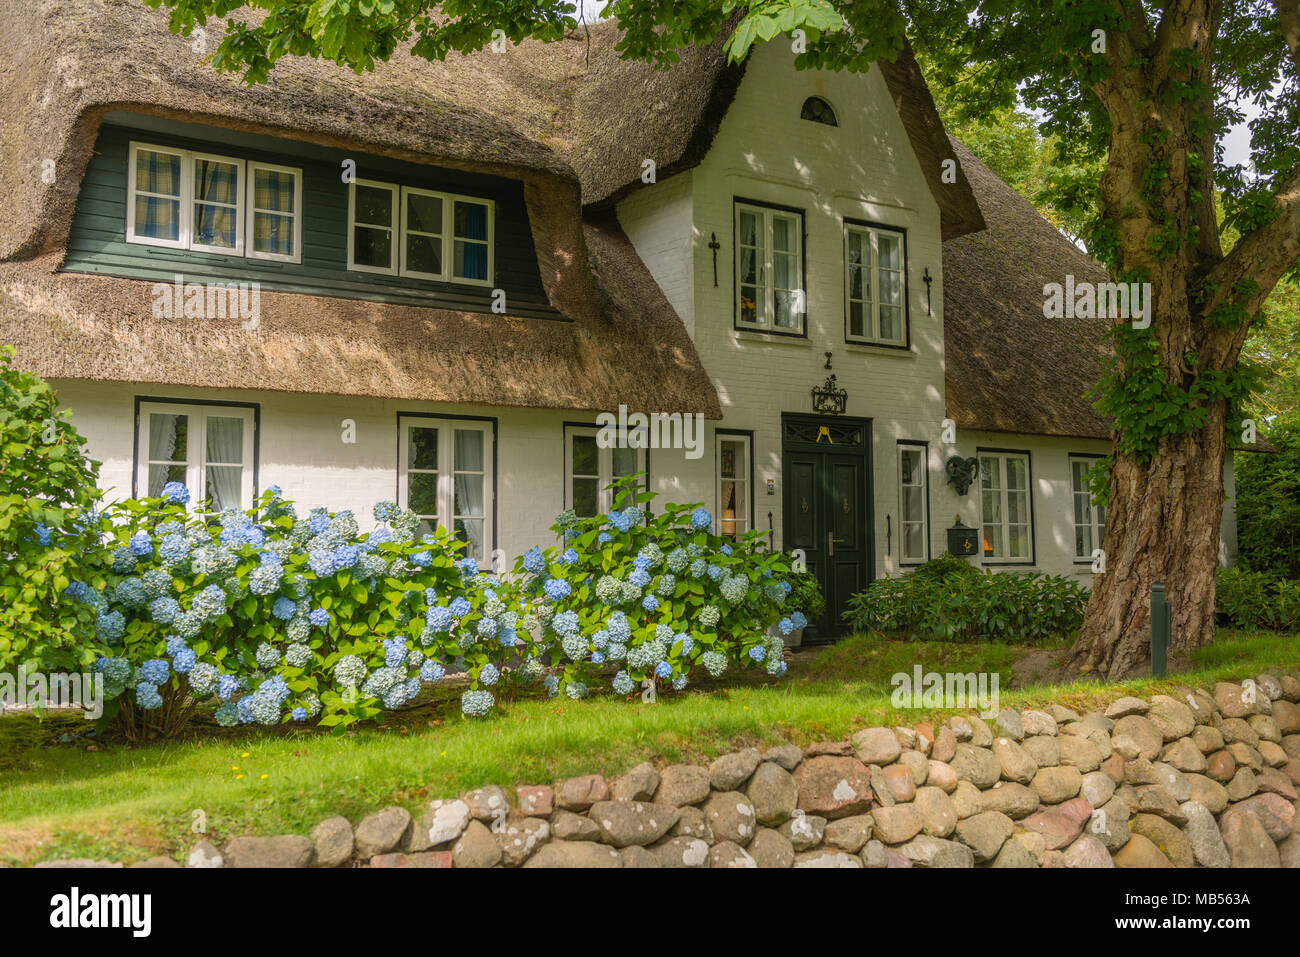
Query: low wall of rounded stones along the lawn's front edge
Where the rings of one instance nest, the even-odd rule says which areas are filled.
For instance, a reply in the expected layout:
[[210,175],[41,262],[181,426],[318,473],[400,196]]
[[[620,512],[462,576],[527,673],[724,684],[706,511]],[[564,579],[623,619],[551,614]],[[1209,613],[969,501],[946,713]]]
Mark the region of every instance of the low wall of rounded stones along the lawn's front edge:
[[1104,713],[1053,705],[866,728],[707,767],[478,788],[417,818],[403,807],[355,827],[330,818],[311,837],[202,843],[188,863],[1297,867],[1296,702],[1300,680],[1261,675],[1182,700],[1123,697]]

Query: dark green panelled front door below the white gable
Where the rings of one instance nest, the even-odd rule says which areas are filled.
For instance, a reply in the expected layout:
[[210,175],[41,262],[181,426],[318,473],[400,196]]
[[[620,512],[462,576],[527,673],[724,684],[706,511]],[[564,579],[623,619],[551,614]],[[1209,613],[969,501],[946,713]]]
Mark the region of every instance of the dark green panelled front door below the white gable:
[[785,550],[802,549],[826,596],[812,640],[841,635],[849,597],[872,577],[871,471],[867,420],[785,416],[783,472]]

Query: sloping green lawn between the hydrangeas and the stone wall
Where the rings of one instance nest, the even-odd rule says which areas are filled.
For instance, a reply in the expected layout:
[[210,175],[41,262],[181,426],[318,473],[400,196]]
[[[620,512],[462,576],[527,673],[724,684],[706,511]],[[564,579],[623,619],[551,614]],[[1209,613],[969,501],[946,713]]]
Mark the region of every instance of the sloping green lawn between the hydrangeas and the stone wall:
[[614,775],[647,758],[705,761],[750,744],[807,744],[868,724],[914,724],[946,714],[890,706],[890,676],[910,674],[916,663],[939,672],[996,671],[1004,707],[1056,701],[1087,709],[1121,694],[1300,670],[1296,638],[1221,631],[1216,645],[1180,663],[1188,671],[1162,681],[1049,685],[1040,675],[1050,672],[1063,645],[898,642],[859,635],[801,651],[785,679],[737,676],[654,705],[612,694],[520,698],[488,719],[471,720],[460,716],[448,689],[382,727],[347,735],[204,723],[185,741],[138,748],[87,739],[81,719],[5,718],[0,862],[179,854],[196,840],[196,822],[213,843],[235,833],[306,833],[332,814],[355,820],[389,804],[416,810],[433,797],[481,784]]

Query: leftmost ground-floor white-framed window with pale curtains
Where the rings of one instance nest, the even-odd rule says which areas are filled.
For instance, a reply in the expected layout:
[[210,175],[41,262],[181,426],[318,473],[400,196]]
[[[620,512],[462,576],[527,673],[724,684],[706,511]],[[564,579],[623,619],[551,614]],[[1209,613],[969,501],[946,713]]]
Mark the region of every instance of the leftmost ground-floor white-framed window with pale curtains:
[[136,436],[136,488],[156,498],[181,482],[191,502],[212,511],[251,508],[254,411],[238,406],[142,402]]

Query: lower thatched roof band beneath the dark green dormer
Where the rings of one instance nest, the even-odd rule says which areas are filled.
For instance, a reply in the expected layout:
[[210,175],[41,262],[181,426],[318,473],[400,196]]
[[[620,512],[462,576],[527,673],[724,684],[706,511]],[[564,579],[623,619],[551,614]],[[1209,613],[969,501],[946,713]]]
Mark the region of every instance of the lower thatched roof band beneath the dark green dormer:
[[256,329],[153,319],[152,283],[56,272],[51,254],[0,264],[0,342],[49,378],[720,417],[618,224],[584,231],[598,280],[571,322],[266,291]]

